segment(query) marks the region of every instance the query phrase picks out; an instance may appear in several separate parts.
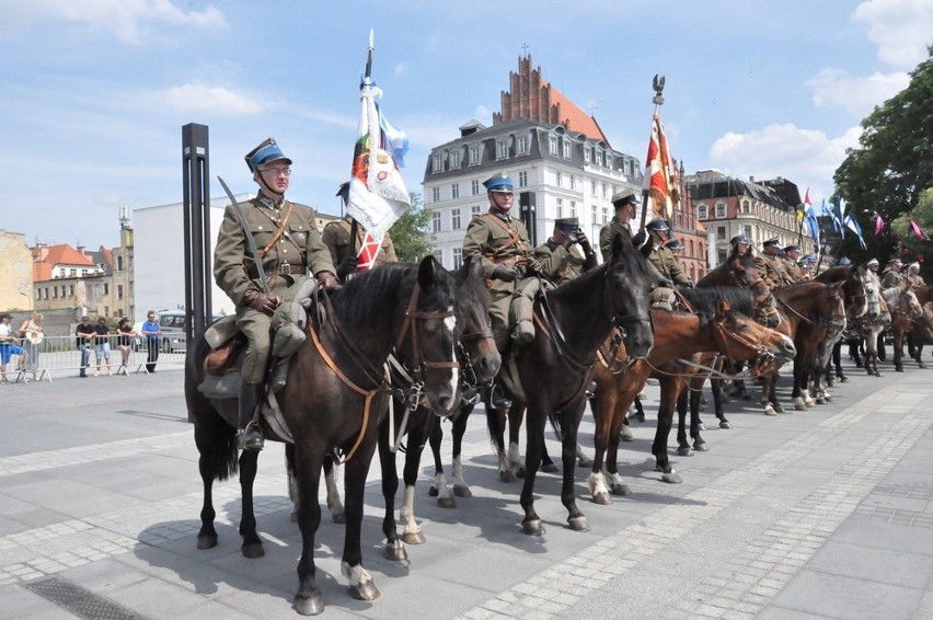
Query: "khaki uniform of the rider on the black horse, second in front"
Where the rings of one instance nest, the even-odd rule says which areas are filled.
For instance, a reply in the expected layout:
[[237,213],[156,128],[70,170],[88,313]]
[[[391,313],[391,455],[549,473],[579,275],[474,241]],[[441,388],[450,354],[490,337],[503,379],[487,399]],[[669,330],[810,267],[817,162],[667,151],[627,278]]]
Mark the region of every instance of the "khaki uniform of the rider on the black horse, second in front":
[[[474,216],[466,227],[463,238],[463,257],[473,256],[483,265],[483,274],[491,278],[498,265],[525,268],[526,261],[532,256],[528,230],[520,219],[492,210]],[[489,279],[489,292],[493,297],[489,307],[493,335],[496,347],[502,352],[508,344],[508,309],[511,296],[518,288],[519,278],[514,282]]]

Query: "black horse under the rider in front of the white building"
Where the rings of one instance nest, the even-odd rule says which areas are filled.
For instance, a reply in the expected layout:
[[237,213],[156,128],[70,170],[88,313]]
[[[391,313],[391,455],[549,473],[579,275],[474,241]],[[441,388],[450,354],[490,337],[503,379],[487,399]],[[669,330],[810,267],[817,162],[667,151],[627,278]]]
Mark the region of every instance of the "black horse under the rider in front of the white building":
[[[648,308],[650,276],[645,257],[627,242],[615,240],[611,259],[576,279],[540,295],[534,301],[534,338],[515,348],[504,361],[504,388],[512,410],[527,405],[526,478],[521,490],[522,531],[542,536],[544,527],[534,512],[534,480],[541,464],[544,427],[549,417],[562,440],[561,502],[574,531],[589,525],[576,504],[574,468],[577,429],[586,406],[599,345],[614,328],[623,333],[632,359],[652,348]],[[507,462],[502,434],[502,412],[486,411],[486,421],[499,463]]]

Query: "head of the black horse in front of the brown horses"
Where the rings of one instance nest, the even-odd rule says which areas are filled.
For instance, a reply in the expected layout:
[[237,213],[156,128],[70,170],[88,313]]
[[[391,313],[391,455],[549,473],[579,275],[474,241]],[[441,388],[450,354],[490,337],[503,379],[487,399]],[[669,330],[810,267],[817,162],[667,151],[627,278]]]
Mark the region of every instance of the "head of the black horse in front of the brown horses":
[[652,286],[647,259],[617,237],[606,272],[607,299],[612,322],[622,331],[632,360],[647,357],[654,344],[648,303]]

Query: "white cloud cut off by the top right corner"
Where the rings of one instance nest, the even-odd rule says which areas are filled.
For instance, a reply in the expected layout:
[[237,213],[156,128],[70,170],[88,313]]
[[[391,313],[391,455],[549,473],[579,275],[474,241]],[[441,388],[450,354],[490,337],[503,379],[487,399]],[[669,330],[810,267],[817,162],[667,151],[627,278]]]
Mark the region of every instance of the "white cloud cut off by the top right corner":
[[933,43],[933,0],[867,0],[852,19],[868,26],[868,39],[885,62],[912,69],[926,59],[926,46]]

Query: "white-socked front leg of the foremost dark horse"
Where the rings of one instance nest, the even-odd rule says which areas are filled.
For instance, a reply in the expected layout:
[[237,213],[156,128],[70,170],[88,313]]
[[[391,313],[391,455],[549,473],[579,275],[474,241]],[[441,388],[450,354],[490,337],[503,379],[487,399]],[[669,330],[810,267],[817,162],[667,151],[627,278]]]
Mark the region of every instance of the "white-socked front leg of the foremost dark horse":
[[[384,403],[383,403],[384,406]],[[373,409],[376,404],[373,403]],[[380,409],[376,409],[380,411]],[[357,453],[344,464],[344,493],[346,496],[347,525],[344,532],[344,553],[341,573],[349,581],[350,596],[358,600],[375,600],[380,592],[372,576],[362,567],[362,500],[366,491],[366,474],[378,444],[371,434],[359,445]],[[303,559],[303,554],[302,554]]]

